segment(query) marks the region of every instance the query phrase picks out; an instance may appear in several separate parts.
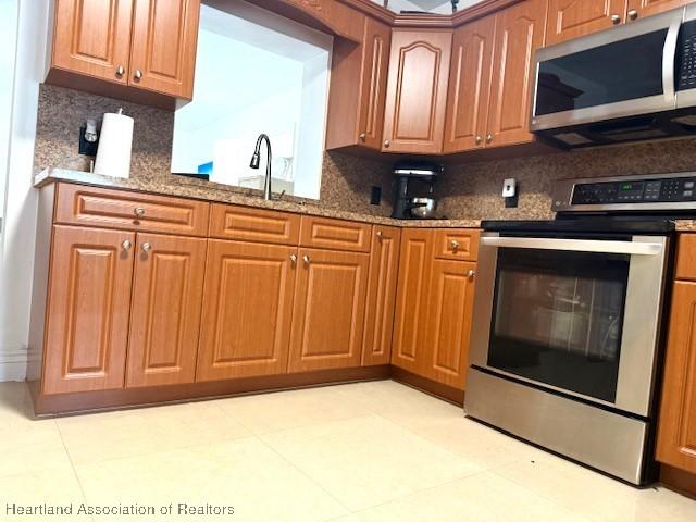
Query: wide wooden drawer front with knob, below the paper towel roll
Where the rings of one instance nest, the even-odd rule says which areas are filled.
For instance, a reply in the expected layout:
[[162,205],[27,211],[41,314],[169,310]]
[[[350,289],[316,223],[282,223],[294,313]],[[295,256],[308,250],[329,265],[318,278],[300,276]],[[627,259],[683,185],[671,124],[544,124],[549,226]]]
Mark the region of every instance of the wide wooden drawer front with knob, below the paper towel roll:
[[70,225],[206,236],[204,201],[59,184],[55,222]]

